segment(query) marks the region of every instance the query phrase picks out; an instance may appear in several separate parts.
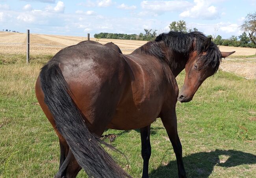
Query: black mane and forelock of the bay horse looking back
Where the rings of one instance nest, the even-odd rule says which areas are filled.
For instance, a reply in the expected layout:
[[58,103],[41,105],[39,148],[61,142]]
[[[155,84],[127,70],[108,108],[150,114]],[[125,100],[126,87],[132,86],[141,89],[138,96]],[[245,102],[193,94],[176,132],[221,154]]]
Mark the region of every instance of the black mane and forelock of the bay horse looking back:
[[[147,44],[141,46],[141,51],[149,55],[154,55],[175,68],[179,60],[181,60],[175,59],[175,55],[180,54],[188,59],[192,51],[197,51],[198,55],[201,54],[204,50],[203,43],[206,38],[207,37],[199,31],[191,33],[170,31],[169,33],[161,33],[154,41],[147,42]],[[194,40],[195,48],[193,49],[192,45]],[[164,51],[163,44],[165,44],[169,50]],[[201,55],[198,58],[198,62],[202,64],[200,68],[207,68],[210,65],[216,72],[221,62],[221,52],[217,46],[211,42],[207,53]]]

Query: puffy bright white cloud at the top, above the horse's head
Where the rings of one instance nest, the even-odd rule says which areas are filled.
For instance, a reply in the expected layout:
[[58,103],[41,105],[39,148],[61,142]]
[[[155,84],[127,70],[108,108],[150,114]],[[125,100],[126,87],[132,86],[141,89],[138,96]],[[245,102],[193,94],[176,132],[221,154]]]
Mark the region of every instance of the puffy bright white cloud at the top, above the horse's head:
[[213,20],[219,18],[217,7],[211,6],[209,0],[194,0],[195,5],[189,10],[180,13],[180,17],[200,18],[204,20]]

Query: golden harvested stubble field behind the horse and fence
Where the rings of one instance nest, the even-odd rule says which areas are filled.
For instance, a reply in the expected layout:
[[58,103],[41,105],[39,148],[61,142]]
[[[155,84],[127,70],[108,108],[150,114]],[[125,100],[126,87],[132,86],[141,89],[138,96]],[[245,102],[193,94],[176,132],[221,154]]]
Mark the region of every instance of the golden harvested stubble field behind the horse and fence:
[[[30,55],[54,55],[62,48],[66,46],[77,44],[86,40],[86,37],[72,37],[62,35],[42,35],[42,34],[30,34]],[[96,41],[95,38],[91,40]],[[129,54],[136,48],[139,48],[147,41],[136,40],[119,40],[119,39],[100,39],[98,42],[106,44],[113,42],[121,48],[124,54]],[[4,44],[2,44],[4,43]],[[15,44],[23,43],[23,44]],[[26,34],[25,33],[10,33],[0,32],[0,53],[6,56],[12,54],[26,54]],[[43,45],[39,45],[43,44]],[[254,78],[256,73],[256,59],[252,58],[249,62],[248,59],[241,58],[236,59],[237,56],[255,55],[255,48],[241,48],[220,46],[221,51],[236,51],[230,57],[232,59],[223,60],[221,67],[223,70],[235,73],[236,75]]]

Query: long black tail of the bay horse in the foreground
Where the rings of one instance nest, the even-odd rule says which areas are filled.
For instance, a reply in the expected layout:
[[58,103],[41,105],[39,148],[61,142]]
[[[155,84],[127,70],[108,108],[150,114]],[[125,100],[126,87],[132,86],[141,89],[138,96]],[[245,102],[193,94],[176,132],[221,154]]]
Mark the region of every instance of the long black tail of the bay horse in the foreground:
[[88,130],[83,114],[69,95],[71,92],[58,62],[52,61],[45,65],[40,72],[40,79],[45,104],[54,116],[57,130],[66,139],[76,160],[88,176],[131,177],[115,163],[100,144],[111,146]]

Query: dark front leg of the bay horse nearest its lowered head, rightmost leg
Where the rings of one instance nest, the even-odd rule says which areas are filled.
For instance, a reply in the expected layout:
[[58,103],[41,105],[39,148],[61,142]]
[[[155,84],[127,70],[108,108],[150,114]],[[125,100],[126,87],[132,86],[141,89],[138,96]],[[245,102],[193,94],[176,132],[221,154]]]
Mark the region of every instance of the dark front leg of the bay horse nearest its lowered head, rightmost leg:
[[186,171],[182,159],[182,145],[180,143],[177,130],[177,117],[175,108],[169,110],[168,112],[161,113],[161,120],[173,145],[173,150],[176,155],[178,164],[178,176],[179,178],[186,178]]

